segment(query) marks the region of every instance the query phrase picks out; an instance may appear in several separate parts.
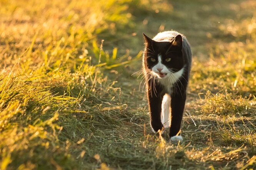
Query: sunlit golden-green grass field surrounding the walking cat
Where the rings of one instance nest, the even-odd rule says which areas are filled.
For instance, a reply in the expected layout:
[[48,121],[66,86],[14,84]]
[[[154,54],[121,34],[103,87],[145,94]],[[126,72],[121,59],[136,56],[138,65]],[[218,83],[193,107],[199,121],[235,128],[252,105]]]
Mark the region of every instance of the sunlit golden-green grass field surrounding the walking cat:
[[[185,34],[181,133],[149,125],[142,33]],[[254,0],[0,0],[0,169],[256,169]]]

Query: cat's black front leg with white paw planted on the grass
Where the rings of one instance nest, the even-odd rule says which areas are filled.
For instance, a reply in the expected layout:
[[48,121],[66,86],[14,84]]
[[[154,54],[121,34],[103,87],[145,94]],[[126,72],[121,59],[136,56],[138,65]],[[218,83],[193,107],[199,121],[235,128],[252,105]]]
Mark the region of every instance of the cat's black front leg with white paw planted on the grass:
[[171,127],[170,139],[172,142],[182,141],[180,136],[181,120],[186,102],[186,92],[173,95],[171,98]]

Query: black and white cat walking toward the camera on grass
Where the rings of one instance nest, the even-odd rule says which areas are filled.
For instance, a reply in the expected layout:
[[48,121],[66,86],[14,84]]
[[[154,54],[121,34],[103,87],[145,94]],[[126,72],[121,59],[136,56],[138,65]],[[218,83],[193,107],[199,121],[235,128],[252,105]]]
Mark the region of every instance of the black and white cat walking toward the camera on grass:
[[153,39],[143,35],[143,70],[151,127],[155,132],[170,127],[171,141],[182,141],[180,127],[191,68],[190,45],[176,31],[158,33]]

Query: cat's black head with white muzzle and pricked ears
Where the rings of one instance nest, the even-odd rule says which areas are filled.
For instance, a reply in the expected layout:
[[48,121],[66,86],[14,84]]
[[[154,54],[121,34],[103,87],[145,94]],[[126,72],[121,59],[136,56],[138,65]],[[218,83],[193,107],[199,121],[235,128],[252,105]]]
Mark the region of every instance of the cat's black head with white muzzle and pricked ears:
[[144,57],[146,69],[158,78],[173,76],[184,66],[182,54],[182,36],[177,35],[170,41],[154,41],[146,36]]

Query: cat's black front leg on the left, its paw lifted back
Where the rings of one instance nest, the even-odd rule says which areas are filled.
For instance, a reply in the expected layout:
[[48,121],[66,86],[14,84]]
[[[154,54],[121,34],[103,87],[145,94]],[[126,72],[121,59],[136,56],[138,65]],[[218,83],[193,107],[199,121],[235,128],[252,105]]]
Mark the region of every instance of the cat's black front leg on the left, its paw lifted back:
[[[152,85],[152,83],[151,83]],[[163,95],[160,95],[161,87],[148,88],[148,106],[150,112],[150,123],[153,131],[157,132],[159,129],[163,129],[161,122],[161,104]]]

